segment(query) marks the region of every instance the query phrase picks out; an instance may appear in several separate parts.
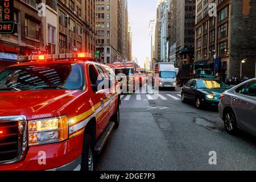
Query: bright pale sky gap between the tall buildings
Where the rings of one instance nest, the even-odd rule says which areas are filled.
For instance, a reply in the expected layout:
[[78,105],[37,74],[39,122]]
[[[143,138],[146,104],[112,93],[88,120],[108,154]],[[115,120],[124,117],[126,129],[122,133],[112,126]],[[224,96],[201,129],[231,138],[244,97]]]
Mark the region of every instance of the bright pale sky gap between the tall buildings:
[[133,56],[144,67],[146,57],[150,57],[150,20],[156,17],[158,0],[127,0],[128,12],[133,31]]

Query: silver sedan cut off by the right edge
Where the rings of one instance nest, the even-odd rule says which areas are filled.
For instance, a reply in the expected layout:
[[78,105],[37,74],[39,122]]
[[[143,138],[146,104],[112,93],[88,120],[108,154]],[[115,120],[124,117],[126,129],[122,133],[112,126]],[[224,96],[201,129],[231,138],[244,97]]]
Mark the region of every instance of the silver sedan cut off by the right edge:
[[218,112],[229,134],[240,129],[256,136],[256,78],[224,92]]

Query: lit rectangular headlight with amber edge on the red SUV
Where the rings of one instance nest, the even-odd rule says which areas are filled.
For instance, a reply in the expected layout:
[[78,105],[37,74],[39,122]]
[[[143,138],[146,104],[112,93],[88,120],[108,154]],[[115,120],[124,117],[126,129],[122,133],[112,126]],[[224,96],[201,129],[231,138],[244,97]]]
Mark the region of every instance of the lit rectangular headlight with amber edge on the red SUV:
[[28,146],[61,142],[68,139],[66,116],[28,122]]

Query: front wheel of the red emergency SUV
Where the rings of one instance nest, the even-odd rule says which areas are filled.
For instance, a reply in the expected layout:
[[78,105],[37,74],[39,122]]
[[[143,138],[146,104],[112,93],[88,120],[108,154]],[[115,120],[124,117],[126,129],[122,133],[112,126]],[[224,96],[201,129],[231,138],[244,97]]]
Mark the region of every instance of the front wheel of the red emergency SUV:
[[94,171],[94,144],[89,134],[84,136],[81,171]]

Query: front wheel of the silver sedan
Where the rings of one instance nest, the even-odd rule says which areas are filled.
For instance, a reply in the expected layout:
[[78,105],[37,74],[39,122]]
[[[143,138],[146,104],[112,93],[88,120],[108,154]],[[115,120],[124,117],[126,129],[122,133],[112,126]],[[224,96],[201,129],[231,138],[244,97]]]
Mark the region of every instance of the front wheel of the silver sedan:
[[228,134],[230,135],[238,134],[236,116],[234,115],[234,112],[231,109],[228,109],[225,112],[224,126]]

